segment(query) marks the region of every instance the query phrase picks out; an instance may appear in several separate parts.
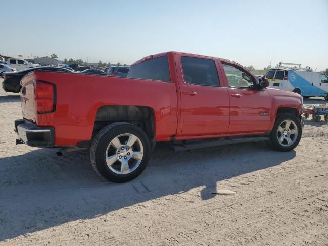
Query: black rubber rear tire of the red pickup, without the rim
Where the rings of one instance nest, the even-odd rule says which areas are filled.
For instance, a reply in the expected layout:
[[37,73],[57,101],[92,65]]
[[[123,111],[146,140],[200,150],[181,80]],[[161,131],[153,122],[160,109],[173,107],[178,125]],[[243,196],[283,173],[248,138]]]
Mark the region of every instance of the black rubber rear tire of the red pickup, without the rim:
[[[105,157],[110,142],[121,134],[135,135],[141,141],[144,152],[137,168],[127,174],[117,174],[112,171],[108,167]],[[100,176],[112,182],[122,183],[136,178],[145,170],[149,161],[150,152],[151,148],[149,138],[141,128],[125,122],[115,122],[101,129],[93,139],[90,148],[90,160],[93,169]]]

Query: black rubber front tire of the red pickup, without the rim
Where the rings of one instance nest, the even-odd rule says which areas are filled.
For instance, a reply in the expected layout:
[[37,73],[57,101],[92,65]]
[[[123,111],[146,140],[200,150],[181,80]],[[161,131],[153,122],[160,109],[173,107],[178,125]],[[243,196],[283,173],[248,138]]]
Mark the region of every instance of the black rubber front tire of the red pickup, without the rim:
[[[278,131],[280,124],[282,124],[283,121],[288,120],[288,119],[295,122],[295,124],[297,126],[298,135],[295,139],[295,142],[292,145],[283,146],[278,141],[277,131]],[[278,150],[278,151],[293,150],[299,144],[299,141],[301,140],[301,137],[302,137],[302,126],[301,126],[301,122],[300,122],[299,118],[297,118],[295,115],[289,114],[289,113],[278,114],[276,117],[275,125],[273,126],[269,137],[270,137],[271,145],[275,150]]]

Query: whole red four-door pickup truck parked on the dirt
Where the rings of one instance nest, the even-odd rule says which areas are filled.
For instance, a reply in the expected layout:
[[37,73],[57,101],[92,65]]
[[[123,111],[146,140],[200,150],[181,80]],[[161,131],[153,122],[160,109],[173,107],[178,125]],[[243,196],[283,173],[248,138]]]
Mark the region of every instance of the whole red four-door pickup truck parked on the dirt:
[[22,79],[16,142],[90,148],[95,171],[114,182],[137,177],[157,141],[176,151],[260,140],[292,150],[302,97],[267,87],[233,61],[180,52],[142,58],[126,78],[35,71]]

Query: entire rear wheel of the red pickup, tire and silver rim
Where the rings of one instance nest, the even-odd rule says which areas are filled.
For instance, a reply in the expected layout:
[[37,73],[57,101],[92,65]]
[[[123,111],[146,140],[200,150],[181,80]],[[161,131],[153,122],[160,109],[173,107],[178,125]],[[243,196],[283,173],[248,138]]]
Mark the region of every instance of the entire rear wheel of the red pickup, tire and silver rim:
[[101,129],[90,148],[94,170],[112,182],[127,182],[141,174],[150,155],[150,141],[141,128],[116,122]]

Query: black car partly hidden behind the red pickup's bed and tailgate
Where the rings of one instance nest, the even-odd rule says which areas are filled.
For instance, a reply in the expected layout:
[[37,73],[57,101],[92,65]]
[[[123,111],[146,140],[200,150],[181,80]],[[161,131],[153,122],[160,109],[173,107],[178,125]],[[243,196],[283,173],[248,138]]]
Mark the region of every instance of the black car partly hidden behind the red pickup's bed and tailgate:
[[55,72],[67,72],[72,73],[71,70],[61,67],[34,67],[29,69],[20,70],[13,73],[5,73],[5,80],[2,83],[2,88],[5,91],[19,93],[20,92],[20,79],[22,79],[26,74],[33,72],[35,70],[46,70]]

